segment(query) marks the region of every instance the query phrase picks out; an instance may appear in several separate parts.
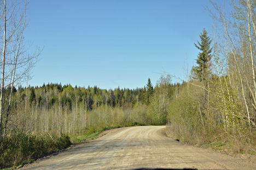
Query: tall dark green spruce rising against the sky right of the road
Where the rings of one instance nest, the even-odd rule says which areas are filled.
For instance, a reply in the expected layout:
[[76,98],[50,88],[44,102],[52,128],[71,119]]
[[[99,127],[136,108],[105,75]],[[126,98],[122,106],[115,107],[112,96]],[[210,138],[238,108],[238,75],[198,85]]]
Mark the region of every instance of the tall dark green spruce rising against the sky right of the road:
[[203,31],[199,35],[201,42],[197,41],[197,44],[194,43],[195,47],[199,49],[200,52],[196,59],[197,66],[193,66],[193,71],[195,72],[195,78],[200,81],[205,80],[208,77],[210,61],[212,58],[212,40],[207,36],[207,34],[207,31],[203,28]]

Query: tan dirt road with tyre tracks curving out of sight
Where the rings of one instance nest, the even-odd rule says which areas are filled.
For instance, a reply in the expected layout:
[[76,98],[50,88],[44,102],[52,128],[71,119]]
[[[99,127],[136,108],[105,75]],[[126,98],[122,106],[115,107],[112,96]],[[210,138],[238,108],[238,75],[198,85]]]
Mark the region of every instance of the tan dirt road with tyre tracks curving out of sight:
[[164,128],[137,126],[110,130],[89,143],[78,144],[22,169],[256,169],[253,162],[179,143],[162,134]]

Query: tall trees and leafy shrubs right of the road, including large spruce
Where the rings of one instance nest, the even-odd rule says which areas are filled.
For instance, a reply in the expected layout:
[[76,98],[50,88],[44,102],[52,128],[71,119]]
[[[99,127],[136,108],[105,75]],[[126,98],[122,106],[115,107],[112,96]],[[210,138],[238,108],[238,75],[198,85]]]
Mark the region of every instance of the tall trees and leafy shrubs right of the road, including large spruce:
[[189,143],[255,154],[256,5],[232,1],[230,13],[212,5],[213,36],[203,29],[195,43],[196,65],[169,103],[168,129]]

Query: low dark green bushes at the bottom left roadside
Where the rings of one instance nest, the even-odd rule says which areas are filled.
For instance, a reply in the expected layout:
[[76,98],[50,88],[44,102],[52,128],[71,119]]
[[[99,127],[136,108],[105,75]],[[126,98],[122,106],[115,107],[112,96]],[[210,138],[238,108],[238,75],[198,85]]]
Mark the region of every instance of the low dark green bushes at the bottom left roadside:
[[63,134],[53,142],[49,136],[37,138],[25,133],[16,133],[5,137],[4,143],[3,154],[0,156],[1,168],[22,165],[71,145],[69,137]]

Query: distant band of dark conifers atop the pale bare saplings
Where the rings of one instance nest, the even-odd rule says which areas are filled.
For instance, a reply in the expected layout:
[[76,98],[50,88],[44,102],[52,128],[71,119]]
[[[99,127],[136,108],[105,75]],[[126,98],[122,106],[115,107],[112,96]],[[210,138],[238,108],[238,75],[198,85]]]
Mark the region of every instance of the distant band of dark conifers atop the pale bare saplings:
[[135,103],[148,103],[148,91],[146,87],[137,89],[100,89],[94,86],[85,87],[72,87],[69,85],[61,84],[47,84],[40,87],[27,88],[19,86],[19,94],[22,100],[25,97],[29,98],[29,104],[33,107],[51,108],[54,104],[60,104],[62,107],[68,105],[72,108],[73,103],[78,105],[84,104],[86,110],[97,109],[102,105],[109,105],[110,107],[125,107],[133,106]]

